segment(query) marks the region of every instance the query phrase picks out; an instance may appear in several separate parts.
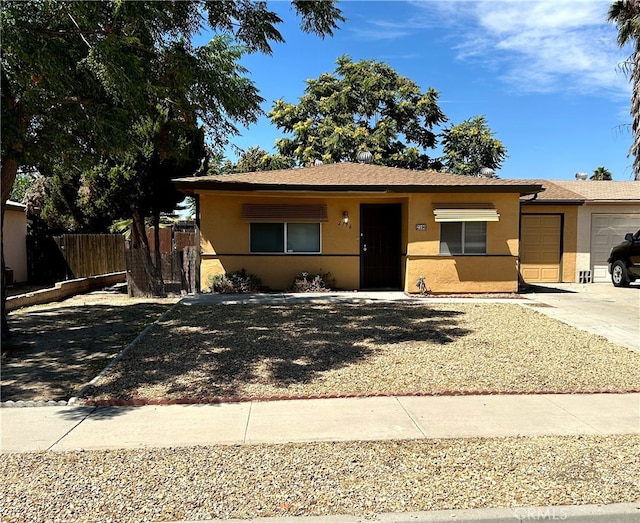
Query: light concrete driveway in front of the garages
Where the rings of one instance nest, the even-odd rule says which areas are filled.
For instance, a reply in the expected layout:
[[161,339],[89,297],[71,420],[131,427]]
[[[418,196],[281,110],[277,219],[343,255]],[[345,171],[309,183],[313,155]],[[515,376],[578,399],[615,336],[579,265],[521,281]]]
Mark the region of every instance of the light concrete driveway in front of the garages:
[[545,283],[523,294],[537,310],[640,352],[640,284]]

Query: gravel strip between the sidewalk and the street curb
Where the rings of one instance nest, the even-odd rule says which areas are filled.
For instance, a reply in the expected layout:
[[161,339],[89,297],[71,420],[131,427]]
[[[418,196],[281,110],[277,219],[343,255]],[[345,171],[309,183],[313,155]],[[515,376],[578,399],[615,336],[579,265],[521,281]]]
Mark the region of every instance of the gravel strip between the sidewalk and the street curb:
[[4,522],[128,522],[640,500],[639,436],[0,456]]

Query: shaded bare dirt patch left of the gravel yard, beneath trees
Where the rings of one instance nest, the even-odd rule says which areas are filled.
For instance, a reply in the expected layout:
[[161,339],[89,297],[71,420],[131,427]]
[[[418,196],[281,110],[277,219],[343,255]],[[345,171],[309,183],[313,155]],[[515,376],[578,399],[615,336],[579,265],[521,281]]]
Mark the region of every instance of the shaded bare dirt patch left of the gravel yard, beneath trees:
[[2,401],[69,399],[171,305],[63,305],[10,314]]

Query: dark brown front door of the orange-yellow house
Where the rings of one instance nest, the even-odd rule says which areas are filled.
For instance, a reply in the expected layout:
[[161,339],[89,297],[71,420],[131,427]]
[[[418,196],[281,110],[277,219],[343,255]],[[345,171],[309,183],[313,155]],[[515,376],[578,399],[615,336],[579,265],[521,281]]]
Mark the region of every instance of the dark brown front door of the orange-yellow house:
[[360,287],[401,288],[402,207],[360,206]]

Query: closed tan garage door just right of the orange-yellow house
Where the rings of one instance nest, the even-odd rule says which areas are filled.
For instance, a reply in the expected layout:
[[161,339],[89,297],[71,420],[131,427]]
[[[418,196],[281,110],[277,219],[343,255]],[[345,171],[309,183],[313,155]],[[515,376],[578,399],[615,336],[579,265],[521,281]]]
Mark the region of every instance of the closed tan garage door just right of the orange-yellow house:
[[526,283],[561,281],[562,215],[523,214],[520,275]]

